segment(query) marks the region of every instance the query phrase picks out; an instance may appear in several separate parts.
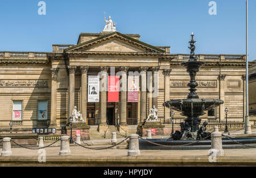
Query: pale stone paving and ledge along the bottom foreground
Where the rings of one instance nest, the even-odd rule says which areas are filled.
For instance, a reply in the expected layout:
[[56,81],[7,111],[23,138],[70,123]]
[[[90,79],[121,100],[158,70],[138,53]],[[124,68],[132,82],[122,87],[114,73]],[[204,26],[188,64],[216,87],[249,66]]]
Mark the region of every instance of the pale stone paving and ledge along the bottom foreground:
[[46,148],[46,163],[39,163],[38,150],[13,148],[11,157],[0,157],[0,166],[256,166],[256,149],[224,150],[225,156],[210,162],[208,150],[141,150],[132,157],[126,149],[70,148],[69,156],[59,156],[60,147]]

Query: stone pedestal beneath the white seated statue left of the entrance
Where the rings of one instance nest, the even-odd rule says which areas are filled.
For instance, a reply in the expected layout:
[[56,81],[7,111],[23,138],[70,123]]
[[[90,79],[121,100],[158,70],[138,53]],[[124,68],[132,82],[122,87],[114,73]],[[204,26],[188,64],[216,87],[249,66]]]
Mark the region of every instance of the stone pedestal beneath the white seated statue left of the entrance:
[[[71,126],[68,124],[66,126],[67,129],[67,135],[70,137],[71,134]],[[90,126],[86,124],[86,122],[74,122],[72,123],[72,137],[73,140],[76,140],[76,130],[81,130],[81,139],[82,140],[89,140],[90,139],[90,133],[89,133]]]

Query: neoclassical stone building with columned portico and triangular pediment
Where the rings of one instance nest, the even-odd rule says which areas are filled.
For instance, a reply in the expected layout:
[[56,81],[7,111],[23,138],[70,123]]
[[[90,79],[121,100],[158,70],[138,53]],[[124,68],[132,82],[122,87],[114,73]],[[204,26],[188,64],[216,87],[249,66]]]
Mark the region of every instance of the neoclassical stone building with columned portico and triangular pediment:
[[[75,105],[100,133],[108,124],[134,129],[152,105],[158,108],[160,121],[166,122],[170,110],[163,102],[187,98],[189,76],[180,63],[189,55],[172,54],[169,46],[153,46],[139,38],[119,32],[81,33],[76,45],[52,45],[52,52],[0,52],[0,131],[9,132],[12,120],[14,132],[56,128],[57,133],[64,133]],[[224,121],[227,107],[228,120],[241,124],[245,118],[245,56],[198,54],[197,58],[205,61],[196,77],[200,98],[225,101],[205,113],[203,120]],[[101,88],[108,87],[113,69],[122,75],[119,82],[124,88],[129,72],[138,71],[138,101],[127,102],[126,91],[115,93],[118,101],[108,101],[108,91]],[[99,73],[98,100],[89,102],[88,79]],[[155,98],[148,89],[152,87],[158,90]],[[175,118],[184,117],[175,113]]]

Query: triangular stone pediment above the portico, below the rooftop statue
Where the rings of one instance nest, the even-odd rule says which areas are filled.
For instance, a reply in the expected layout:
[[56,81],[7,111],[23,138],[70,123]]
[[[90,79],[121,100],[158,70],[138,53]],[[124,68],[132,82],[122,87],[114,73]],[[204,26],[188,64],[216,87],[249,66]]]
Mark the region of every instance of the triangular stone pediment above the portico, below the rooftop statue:
[[109,33],[96,39],[65,49],[66,53],[164,53],[164,50],[143,43],[119,32]]

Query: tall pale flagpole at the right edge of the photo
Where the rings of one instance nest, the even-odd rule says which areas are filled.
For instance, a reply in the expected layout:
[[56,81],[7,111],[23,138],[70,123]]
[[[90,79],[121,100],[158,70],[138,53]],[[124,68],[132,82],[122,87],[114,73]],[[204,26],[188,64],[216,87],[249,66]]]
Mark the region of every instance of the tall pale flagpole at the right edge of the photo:
[[248,89],[248,0],[246,0],[246,115],[245,115],[245,134],[251,134],[251,125],[249,118],[249,89]]

